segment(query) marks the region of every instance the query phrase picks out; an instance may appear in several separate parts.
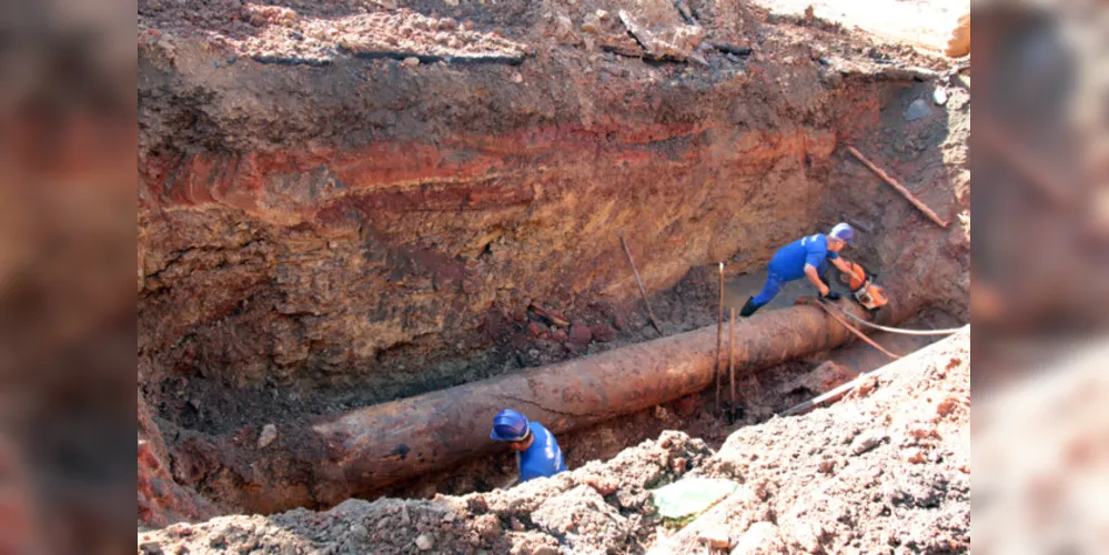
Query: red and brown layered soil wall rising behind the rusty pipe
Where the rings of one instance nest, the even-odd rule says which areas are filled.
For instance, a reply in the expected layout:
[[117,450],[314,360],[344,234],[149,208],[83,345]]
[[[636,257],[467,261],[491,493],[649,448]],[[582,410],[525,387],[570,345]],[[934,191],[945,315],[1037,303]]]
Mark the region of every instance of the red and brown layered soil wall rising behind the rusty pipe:
[[655,337],[619,233],[666,333],[715,322],[717,261],[744,280],[844,218],[853,260],[965,320],[945,62],[699,1],[399,3],[139,3],[144,522],[234,511],[191,493],[192,438]]

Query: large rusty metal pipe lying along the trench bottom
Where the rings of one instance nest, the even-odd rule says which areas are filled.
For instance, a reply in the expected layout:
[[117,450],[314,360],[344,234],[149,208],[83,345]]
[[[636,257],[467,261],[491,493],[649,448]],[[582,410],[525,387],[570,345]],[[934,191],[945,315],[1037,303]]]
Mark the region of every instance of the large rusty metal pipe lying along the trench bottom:
[[[879,320],[896,323],[911,313],[909,304],[891,303]],[[869,320],[855,303],[841,306]],[[737,333],[736,366],[750,373],[849,339],[817,306],[764,311]],[[223,438],[219,451],[234,452],[238,464],[224,462],[231,472],[209,473],[200,485],[222,501],[263,513],[329,506],[504,450],[488,437],[502,408],[516,408],[558,434],[709,387],[715,366],[716,330],[705,327],[367,406],[300,428],[284,424],[281,438],[266,447],[255,444],[255,426]],[[233,482],[225,483],[229,478]]]

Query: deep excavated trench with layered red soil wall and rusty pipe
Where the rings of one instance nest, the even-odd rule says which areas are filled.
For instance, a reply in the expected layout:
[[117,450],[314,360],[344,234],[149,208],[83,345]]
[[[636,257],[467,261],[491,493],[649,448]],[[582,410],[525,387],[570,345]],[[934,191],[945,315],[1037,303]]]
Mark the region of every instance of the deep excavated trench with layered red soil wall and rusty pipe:
[[[284,10],[198,23],[145,3],[144,523],[495,487],[515,471],[487,435],[507,406],[565,438],[572,464],[658,426],[716,433],[698,415],[714,393],[717,263],[726,303],[740,306],[776,249],[844,220],[860,239],[846,256],[899,284],[885,323],[924,307],[966,320],[969,225],[956,216],[969,203],[969,94],[948,87],[946,107],[907,121],[947,87],[916,54],[800,20],[755,28],[707,2],[692,4],[710,43],[759,48],[694,53],[707,65],[645,61],[614,16],[631,8],[611,2],[550,19],[613,14],[581,41],[552,34],[542,2],[463,2],[448,16],[437,2],[370,13],[296,2],[281,20],[296,32],[275,22]],[[659,32],[687,24],[658,7]],[[360,57],[386,46],[336,26],[415,33],[395,39],[420,56]],[[319,41],[346,46],[316,60],[302,42]],[[452,41],[511,50],[513,64],[455,63]],[[847,147],[952,224],[921,215]],[[857,345],[818,309],[793,306],[800,293],[792,284],[739,324],[740,380],[804,373]],[[745,405],[759,392],[747,387]]]

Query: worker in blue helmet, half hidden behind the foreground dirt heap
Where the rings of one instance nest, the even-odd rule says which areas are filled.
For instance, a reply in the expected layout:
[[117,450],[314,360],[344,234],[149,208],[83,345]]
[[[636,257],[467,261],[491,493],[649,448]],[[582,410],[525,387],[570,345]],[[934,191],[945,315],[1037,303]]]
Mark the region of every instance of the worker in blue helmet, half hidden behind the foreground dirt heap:
[[507,442],[516,452],[521,482],[554,476],[566,471],[562,450],[558,448],[554,435],[538,422],[527,422],[526,416],[512,408],[501,411],[493,418],[490,437]]

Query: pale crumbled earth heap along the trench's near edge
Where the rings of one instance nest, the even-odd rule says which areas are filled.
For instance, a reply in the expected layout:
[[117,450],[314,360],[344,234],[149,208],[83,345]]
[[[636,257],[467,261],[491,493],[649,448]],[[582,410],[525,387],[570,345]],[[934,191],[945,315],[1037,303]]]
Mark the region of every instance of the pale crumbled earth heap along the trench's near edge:
[[[506,491],[347,501],[141,532],[141,553],[952,553],[970,542],[970,332],[883,370],[840,403],[732,434],[664,432],[607,462]],[[687,524],[649,490],[740,488]],[[733,552],[736,553],[736,552]]]

